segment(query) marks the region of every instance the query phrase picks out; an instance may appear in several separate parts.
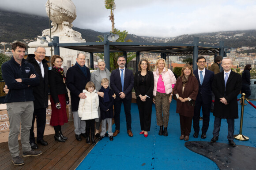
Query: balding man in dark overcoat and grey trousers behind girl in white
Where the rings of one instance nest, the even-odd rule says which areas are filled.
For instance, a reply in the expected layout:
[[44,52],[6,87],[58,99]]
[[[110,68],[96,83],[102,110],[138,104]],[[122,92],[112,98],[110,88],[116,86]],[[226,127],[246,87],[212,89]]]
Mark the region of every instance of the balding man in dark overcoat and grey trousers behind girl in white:
[[74,118],[75,138],[81,141],[81,135],[86,137],[85,134],[85,120],[81,120],[78,116],[78,105],[80,98],[85,99],[86,95],[83,93],[85,85],[90,81],[90,69],[85,66],[85,55],[82,53],[77,54],[76,63],[67,71],[67,87],[70,90],[71,109]]

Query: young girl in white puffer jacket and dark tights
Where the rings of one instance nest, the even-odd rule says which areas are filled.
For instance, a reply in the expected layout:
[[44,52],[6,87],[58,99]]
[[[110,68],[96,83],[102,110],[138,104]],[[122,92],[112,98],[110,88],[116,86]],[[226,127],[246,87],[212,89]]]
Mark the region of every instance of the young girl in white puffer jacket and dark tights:
[[91,81],[89,81],[86,86],[85,90],[86,98],[80,98],[79,105],[78,105],[78,116],[81,117],[82,120],[86,122],[86,143],[90,144],[90,136],[91,136],[91,143],[95,145],[94,139],[94,130],[95,130],[95,119],[98,119],[98,106],[99,106],[99,97],[95,90],[95,85]]

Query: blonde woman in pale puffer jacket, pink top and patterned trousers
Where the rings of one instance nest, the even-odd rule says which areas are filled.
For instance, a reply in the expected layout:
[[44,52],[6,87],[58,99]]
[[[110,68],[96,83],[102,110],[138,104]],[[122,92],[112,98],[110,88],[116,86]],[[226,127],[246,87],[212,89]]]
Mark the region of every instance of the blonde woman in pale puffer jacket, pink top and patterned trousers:
[[163,58],[159,58],[156,61],[153,74],[153,102],[156,110],[156,122],[160,126],[158,135],[168,136],[169,109],[176,79],[173,72],[167,69],[166,60]]

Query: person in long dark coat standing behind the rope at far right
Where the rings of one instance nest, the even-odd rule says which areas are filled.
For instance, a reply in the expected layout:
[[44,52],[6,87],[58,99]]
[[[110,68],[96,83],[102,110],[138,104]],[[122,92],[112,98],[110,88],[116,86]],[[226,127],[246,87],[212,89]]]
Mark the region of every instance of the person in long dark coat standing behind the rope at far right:
[[[245,65],[245,69],[242,73],[242,89],[241,93],[245,93],[245,98],[248,98],[251,95],[251,75],[250,70],[252,69],[252,65]],[[240,101],[241,102],[241,101]],[[247,104],[245,104],[247,105]]]

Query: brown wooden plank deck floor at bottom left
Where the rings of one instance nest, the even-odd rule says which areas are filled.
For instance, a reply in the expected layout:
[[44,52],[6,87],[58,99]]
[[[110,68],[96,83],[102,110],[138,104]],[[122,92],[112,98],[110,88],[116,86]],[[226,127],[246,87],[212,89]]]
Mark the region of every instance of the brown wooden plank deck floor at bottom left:
[[[66,142],[54,141],[54,134],[46,135],[44,140],[49,145],[42,146],[38,144],[38,150],[43,153],[40,156],[23,157],[25,164],[22,166],[15,166],[11,162],[8,142],[0,143],[0,170],[74,170],[93,146],[86,144],[83,137],[82,141],[75,139],[73,121],[65,123],[61,130],[64,136],[68,137]],[[20,156],[22,156],[20,140],[19,151]]]

